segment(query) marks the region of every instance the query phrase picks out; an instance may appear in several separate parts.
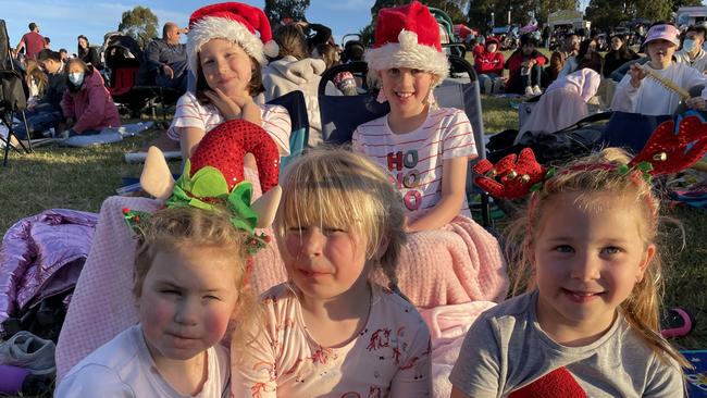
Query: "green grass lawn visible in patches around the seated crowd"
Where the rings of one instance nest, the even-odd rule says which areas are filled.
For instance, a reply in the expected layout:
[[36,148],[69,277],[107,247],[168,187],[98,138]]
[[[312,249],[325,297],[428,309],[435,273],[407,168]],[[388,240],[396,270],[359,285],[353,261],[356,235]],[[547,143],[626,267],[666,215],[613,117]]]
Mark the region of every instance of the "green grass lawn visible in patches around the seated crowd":
[[[517,112],[508,99],[484,98],[483,114],[487,133],[513,128]],[[138,149],[160,132],[128,138],[120,144],[74,148],[38,148],[32,154],[11,153],[8,167],[0,166],[0,232],[17,220],[50,208],[98,212],[108,196],[115,195],[122,177],[138,176],[140,165],[123,160],[126,151]],[[177,163],[173,164],[176,167]],[[670,256],[667,256],[668,307],[682,306],[702,321],[707,309],[707,217],[703,211],[678,208],[666,215],[682,221],[687,247],[682,249],[679,229],[667,229]],[[685,338],[675,339],[681,348],[707,349],[707,322],[697,322]]]

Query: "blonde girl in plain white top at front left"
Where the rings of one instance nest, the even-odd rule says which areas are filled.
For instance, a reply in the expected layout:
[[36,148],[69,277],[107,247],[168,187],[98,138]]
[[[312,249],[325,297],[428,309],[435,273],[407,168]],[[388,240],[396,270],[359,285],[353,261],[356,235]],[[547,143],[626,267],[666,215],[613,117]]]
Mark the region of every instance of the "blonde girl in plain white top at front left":
[[245,283],[245,233],[225,209],[166,208],[138,225],[139,323],[76,364],[55,396],[227,396],[228,351],[220,341],[232,320],[257,313]]

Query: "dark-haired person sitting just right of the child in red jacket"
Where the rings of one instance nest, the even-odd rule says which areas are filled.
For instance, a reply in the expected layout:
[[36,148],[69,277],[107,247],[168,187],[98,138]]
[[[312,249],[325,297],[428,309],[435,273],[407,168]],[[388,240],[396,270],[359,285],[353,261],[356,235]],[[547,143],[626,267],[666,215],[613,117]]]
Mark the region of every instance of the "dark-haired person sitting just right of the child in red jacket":
[[530,34],[520,38],[520,48],[506,61],[508,82],[506,92],[522,94],[525,96],[539,96],[541,76],[543,65],[547,64],[547,57],[535,50],[536,40]]

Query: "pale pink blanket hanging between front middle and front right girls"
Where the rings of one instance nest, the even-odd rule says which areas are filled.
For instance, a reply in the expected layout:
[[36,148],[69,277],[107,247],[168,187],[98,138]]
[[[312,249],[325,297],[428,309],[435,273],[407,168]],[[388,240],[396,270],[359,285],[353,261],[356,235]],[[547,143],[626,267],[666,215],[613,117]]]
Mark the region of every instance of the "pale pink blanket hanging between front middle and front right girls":
[[494,306],[496,303],[491,301],[474,301],[420,310],[432,337],[432,396],[434,398],[449,398],[451,395],[449,374],[459,358],[467,331],[482,312]]

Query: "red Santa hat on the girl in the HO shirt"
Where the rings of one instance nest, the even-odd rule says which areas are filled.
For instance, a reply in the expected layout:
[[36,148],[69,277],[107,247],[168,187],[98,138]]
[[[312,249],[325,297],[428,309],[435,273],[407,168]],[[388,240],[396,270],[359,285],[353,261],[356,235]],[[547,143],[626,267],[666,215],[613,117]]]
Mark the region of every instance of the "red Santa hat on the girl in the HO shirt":
[[[437,20],[420,2],[382,9],[374,37],[373,48],[365,52],[370,70],[410,67],[432,73],[437,82],[447,77],[449,62],[439,42]],[[370,75],[377,77],[377,73]]]

